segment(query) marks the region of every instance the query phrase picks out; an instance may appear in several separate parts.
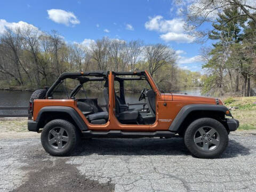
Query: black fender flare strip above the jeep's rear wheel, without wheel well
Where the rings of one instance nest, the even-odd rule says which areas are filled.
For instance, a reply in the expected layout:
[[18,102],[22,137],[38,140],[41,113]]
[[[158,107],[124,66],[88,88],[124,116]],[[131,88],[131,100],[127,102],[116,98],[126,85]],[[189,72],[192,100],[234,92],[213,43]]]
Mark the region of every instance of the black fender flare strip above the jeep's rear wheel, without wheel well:
[[82,131],[88,130],[87,125],[83,121],[82,117],[77,113],[77,111],[72,107],[65,107],[65,106],[47,106],[43,107],[39,110],[39,113],[36,117],[36,122],[43,121],[42,115],[45,113],[66,113],[70,115],[71,118],[73,118],[74,122],[78,126],[78,128]]

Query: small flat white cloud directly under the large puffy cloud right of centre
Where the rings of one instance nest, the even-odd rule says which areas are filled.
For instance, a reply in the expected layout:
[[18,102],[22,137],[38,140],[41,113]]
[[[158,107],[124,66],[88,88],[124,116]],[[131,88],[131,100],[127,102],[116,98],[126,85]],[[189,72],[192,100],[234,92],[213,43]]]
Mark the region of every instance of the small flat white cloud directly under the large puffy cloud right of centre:
[[195,37],[188,34],[177,34],[169,32],[167,34],[160,35],[160,38],[165,42],[175,41],[178,43],[192,43],[195,40]]

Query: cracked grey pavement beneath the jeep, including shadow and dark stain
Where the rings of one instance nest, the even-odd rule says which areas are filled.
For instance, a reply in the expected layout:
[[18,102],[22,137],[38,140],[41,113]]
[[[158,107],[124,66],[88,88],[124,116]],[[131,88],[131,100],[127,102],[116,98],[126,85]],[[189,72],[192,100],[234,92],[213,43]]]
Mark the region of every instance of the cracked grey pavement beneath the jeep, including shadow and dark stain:
[[38,138],[0,139],[0,191],[256,191],[255,147],[230,135],[220,158],[198,159],[180,138],[89,139],[52,157]]

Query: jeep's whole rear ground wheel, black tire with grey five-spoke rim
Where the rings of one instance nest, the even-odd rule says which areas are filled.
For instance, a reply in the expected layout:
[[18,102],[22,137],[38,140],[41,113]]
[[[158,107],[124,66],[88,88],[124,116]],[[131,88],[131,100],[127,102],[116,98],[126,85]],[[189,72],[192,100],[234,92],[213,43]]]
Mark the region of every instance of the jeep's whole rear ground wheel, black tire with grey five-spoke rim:
[[41,134],[43,148],[53,156],[70,155],[79,141],[80,134],[76,127],[63,119],[47,123]]

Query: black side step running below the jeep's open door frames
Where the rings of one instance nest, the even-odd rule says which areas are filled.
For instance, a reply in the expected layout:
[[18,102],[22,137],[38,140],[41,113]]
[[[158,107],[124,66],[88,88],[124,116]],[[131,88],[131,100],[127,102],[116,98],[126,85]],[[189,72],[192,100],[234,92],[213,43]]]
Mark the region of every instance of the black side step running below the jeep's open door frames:
[[171,131],[155,131],[155,132],[131,132],[131,131],[83,131],[84,137],[92,138],[143,138],[143,137],[174,137],[176,133]]

